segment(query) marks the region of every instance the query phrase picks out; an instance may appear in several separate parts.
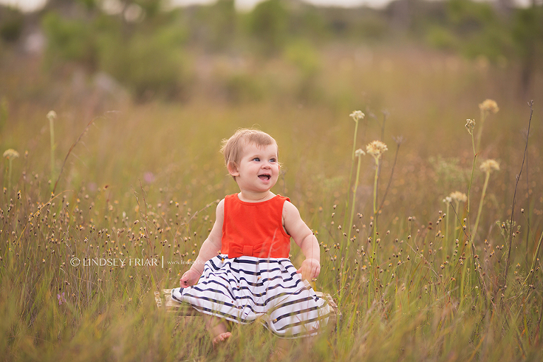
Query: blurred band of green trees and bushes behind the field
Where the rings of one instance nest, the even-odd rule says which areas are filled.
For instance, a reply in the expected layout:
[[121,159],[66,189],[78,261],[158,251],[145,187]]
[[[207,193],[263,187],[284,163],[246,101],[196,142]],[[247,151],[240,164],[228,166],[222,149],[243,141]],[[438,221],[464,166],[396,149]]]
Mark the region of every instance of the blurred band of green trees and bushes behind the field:
[[[542,5],[497,4],[397,0],[376,10],[266,0],[240,12],[234,0],[182,8],[159,0],[49,0],[35,13],[0,7],[0,59],[7,64],[38,34],[45,83],[77,71],[83,83],[100,74],[138,102],[183,101],[197,91],[232,103],[278,94],[311,102],[325,94],[317,80],[323,49],[407,43],[508,67],[525,97],[542,70]],[[262,64],[274,62],[286,64],[288,79],[262,73]]]

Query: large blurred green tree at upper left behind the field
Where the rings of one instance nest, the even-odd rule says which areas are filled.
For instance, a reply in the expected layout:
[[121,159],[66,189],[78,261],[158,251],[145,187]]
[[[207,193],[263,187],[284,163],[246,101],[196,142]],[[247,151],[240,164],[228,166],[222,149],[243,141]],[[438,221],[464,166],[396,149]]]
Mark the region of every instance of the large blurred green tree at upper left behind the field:
[[[188,78],[182,50],[187,29],[179,21],[180,11],[157,11],[154,0],[118,4],[122,8],[110,9],[111,14],[103,11],[101,1],[49,4],[42,19],[47,36],[45,64],[62,69],[71,62],[88,74],[105,71],[137,100],[180,97]],[[136,6],[132,14],[130,6]]]

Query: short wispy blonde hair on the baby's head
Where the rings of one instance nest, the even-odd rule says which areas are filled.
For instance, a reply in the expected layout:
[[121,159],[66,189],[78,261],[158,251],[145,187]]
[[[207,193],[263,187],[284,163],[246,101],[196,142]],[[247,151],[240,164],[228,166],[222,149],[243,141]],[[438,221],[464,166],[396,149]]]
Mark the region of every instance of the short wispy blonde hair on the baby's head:
[[222,141],[221,153],[224,155],[224,163],[228,170],[238,166],[243,153],[243,146],[250,143],[256,144],[258,147],[269,146],[270,144],[277,146],[275,139],[266,132],[252,128],[238,129],[233,136]]

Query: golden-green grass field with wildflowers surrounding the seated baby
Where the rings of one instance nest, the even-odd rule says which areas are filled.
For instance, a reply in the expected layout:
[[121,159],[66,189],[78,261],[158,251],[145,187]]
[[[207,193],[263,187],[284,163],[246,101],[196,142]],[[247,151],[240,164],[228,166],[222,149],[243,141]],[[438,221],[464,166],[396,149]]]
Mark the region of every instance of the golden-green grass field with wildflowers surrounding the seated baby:
[[[175,320],[153,300],[177,286],[216,202],[237,191],[221,139],[256,126],[279,144],[272,191],[322,245],[316,288],[343,313],[337,331],[310,350],[296,344],[288,360],[541,361],[541,74],[526,147],[530,99],[519,99],[513,65],[402,47],[318,59],[309,76],[284,61],[247,66],[241,89],[259,97],[209,98],[202,81],[185,103],[143,105],[78,93],[8,59],[0,151],[18,157],[4,153],[0,169],[0,356],[268,361],[276,341],[261,327],[235,327],[214,353],[200,320]],[[214,76],[228,72],[210,62]],[[499,111],[481,115],[488,98]],[[356,134],[354,110],[366,114]],[[388,148],[377,169],[353,156],[374,140]],[[481,170],[485,160],[499,170]]]

